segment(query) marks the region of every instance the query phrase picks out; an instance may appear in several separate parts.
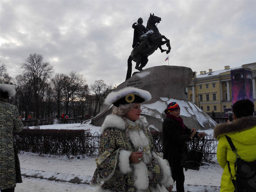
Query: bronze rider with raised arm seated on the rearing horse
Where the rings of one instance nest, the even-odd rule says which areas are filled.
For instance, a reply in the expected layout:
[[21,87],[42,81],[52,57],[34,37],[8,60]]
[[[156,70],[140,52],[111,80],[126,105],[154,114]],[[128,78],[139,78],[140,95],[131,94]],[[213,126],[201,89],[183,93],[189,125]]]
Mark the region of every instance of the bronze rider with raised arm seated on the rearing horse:
[[132,24],[132,28],[134,29],[134,40],[132,44],[132,48],[136,47],[138,43],[146,44],[149,49],[153,46],[148,43],[148,36],[145,33],[148,31],[145,26],[143,26],[143,19],[140,17],[137,22]]

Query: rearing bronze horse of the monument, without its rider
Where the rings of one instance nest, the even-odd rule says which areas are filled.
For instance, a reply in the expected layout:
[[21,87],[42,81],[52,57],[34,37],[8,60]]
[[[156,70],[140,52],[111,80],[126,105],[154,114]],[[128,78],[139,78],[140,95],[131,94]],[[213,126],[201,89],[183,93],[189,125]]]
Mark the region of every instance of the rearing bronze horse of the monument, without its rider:
[[[157,29],[157,23],[160,23],[161,17],[157,17],[150,14],[150,17],[148,18],[147,23],[147,30],[144,35],[148,37],[148,42],[150,45],[152,45],[152,48],[149,48],[146,44],[137,44],[134,49],[131,51],[131,55],[128,58],[128,69],[126,74],[126,79],[129,79],[131,77],[131,71],[132,71],[132,62],[136,62],[135,69],[141,71],[143,67],[148,63],[148,56],[151,55],[157,48],[161,50],[161,52],[166,52],[168,54],[171,50],[170,46],[170,40],[167,39],[164,35],[161,35],[159,30]],[[165,41],[163,41],[163,39]],[[162,45],[166,44],[168,47],[168,50],[162,49]],[[137,72],[135,72],[137,73]]]

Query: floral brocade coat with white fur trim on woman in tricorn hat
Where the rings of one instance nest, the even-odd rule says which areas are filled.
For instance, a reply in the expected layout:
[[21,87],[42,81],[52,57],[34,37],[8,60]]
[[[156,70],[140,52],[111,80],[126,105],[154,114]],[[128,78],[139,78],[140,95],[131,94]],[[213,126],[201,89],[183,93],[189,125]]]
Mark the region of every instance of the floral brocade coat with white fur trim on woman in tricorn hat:
[[[140,116],[135,122],[125,120],[113,114],[106,116],[90,185],[102,184],[98,192],[167,192],[166,187],[174,184],[169,163],[156,154],[152,136],[145,128],[145,117]],[[144,151],[140,163],[130,163],[133,151]]]

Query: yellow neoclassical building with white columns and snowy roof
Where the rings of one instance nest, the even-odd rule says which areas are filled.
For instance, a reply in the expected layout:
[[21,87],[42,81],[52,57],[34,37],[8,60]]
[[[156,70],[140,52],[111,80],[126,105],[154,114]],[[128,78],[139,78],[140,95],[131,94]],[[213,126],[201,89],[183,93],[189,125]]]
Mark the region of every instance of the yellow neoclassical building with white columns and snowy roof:
[[225,108],[232,108],[230,71],[242,68],[251,70],[253,99],[256,101],[256,62],[234,68],[225,66],[223,70],[218,71],[212,71],[212,69],[200,71],[200,75],[196,75],[195,72],[192,83],[188,85],[186,90],[188,100],[209,115],[212,115],[212,111],[214,111],[216,116],[223,116]]

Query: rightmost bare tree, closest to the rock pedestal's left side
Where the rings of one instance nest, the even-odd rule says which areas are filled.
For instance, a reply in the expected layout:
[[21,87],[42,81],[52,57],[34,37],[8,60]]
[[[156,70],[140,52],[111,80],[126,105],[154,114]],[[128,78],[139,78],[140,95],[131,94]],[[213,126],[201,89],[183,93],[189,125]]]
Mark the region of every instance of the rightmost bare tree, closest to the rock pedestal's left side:
[[[112,85],[107,85],[102,79],[95,80],[93,84],[90,85],[90,91],[95,94],[95,108],[94,116],[99,113],[100,108],[103,105],[105,97],[108,95],[109,91],[112,89]],[[98,111],[97,111],[98,110]]]

